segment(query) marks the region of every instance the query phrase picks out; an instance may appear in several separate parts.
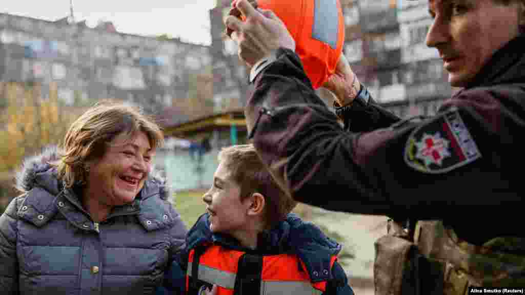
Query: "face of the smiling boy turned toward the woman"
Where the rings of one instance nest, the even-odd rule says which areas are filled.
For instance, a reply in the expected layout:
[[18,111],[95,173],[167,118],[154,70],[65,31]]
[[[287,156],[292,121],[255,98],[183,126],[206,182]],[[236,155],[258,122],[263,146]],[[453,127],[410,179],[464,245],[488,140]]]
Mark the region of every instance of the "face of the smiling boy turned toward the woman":
[[210,228],[213,233],[226,233],[233,236],[243,231],[249,209],[249,198],[240,201],[240,186],[230,179],[230,172],[224,161],[220,161],[213,185],[203,195],[207,204]]

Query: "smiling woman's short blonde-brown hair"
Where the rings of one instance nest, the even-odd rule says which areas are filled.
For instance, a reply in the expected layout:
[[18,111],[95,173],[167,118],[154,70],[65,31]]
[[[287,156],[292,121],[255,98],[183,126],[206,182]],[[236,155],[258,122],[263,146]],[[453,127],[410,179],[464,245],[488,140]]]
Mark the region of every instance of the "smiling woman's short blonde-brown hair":
[[158,124],[141,109],[123,103],[95,104],[71,124],[62,142],[58,177],[66,187],[86,182],[86,162],[100,159],[107,145],[118,135],[142,131],[152,150],[164,144]]

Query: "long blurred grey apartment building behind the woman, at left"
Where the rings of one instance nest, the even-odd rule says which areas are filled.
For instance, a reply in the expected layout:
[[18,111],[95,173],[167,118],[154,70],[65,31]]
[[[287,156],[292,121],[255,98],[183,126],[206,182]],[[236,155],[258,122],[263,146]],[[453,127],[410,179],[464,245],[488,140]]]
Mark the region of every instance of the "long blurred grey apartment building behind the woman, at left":
[[39,82],[43,99],[54,81],[67,106],[122,99],[158,113],[203,89],[195,86],[211,80],[211,64],[208,46],[121,34],[110,22],[0,14],[0,81]]

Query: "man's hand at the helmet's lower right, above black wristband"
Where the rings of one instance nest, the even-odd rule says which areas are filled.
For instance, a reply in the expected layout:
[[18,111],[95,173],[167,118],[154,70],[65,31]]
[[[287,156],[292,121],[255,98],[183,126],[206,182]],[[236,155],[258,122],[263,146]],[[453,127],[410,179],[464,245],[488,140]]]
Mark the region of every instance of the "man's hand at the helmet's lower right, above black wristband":
[[361,89],[361,83],[350,68],[350,64],[344,54],[341,54],[335,66],[335,72],[324,82],[323,87],[335,95],[339,106],[351,103]]

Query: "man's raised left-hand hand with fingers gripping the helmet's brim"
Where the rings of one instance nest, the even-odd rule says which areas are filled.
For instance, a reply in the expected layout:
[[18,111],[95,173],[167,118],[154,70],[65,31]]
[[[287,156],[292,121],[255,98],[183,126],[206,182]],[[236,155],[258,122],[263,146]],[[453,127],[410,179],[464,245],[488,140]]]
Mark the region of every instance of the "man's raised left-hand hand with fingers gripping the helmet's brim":
[[246,19],[226,17],[224,23],[233,30],[232,39],[239,47],[238,55],[248,67],[269,57],[279,47],[295,50],[295,41],[285,24],[270,10],[255,9],[248,0],[239,0],[236,8]]

